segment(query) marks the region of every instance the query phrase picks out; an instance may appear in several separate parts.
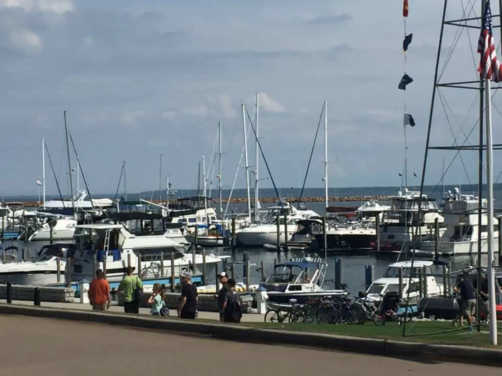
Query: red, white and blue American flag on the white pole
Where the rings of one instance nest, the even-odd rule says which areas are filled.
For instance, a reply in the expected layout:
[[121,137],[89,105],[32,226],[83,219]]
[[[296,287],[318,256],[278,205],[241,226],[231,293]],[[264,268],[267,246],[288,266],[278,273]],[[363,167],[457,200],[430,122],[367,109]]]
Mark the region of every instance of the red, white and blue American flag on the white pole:
[[497,52],[493,44],[493,34],[491,33],[491,9],[490,2],[486,2],[483,15],[483,26],[479,35],[477,52],[481,55],[479,68],[481,79],[488,79],[494,82],[502,80],[500,72],[500,62],[497,59]]

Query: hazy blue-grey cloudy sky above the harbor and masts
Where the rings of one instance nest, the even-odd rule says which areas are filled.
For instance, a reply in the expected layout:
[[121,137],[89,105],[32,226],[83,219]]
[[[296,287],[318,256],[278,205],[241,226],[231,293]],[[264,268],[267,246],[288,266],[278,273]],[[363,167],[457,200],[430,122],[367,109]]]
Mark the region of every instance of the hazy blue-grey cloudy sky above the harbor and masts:
[[[451,3],[450,19],[462,9],[479,16],[479,1]],[[254,117],[256,92],[260,143],[278,186],[301,187],[324,100],[330,187],[400,184],[405,104],[416,122],[406,127],[409,185],[416,185],[441,12],[438,0],[410,0],[406,31],[413,41],[405,66],[397,0],[0,0],[0,194],[37,193],[42,138],[69,193],[63,111],[94,193],[115,192],[123,160],[129,192],[165,187],[168,174],[173,189],[195,187],[202,156],[206,168],[214,159],[218,121],[222,185],[231,187],[244,165],[241,103]],[[458,28],[446,29],[443,82],[475,80],[478,31],[462,29],[455,43]],[[414,82],[402,91],[405,69]],[[441,89],[431,144],[477,142],[476,130],[469,135],[476,96],[476,90]],[[493,123],[496,143],[498,109]],[[249,165],[254,139],[248,131]],[[323,186],[323,139],[321,124],[308,187]],[[71,145],[70,153],[75,167]],[[465,154],[431,151],[426,183],[439,182],[443,160],[448,182],[476,182],[477,156]],[[496,152],[494,158],[497,176]],[[260,159],[260,184],[272,187]],[[47,155],[46,186],[47,194],[57,193]],[[245,186],[242,168],[235,186]]]

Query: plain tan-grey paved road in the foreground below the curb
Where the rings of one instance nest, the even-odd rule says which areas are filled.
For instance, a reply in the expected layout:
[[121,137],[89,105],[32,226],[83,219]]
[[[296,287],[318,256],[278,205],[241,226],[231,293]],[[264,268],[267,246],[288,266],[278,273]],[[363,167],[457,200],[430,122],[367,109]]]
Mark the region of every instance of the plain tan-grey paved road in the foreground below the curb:
[[[2,376],[472,376],[497,368],[194,338],[106,324],[0,316]],[[229,361],[229,358],[231,360]],[[244,368],[235,372],[227,367]]]

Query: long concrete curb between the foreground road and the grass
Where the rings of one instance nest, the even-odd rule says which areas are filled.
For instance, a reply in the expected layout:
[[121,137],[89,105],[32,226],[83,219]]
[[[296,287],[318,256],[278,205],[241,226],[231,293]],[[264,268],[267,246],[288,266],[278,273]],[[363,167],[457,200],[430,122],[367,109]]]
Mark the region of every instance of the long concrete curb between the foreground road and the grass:
[[408,358],[411,360],[428,359],[502,366],[502,350],[498,349],[402,342],[376,338],[295,332],[290,330],[262,329],[243,325],[159,319],[121,313],[97,313],[92,311],[18,306],[11,304],[0,304],[0,314],[26,315],[161,329],[180,334],[197,334],[242,342],[305,346],[325,350]]

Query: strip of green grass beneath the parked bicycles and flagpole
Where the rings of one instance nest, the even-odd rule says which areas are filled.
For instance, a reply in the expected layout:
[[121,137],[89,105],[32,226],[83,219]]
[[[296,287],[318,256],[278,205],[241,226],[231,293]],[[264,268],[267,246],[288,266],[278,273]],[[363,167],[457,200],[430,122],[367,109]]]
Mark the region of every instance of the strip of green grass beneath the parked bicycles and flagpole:
[[[409,342],[429,342],[438,344],[458,344],[491,347],[488,328],[481,326],[481,332],[469,332],[465,328],[452,327],[450,321],[411,321],[406,323],[406,336],[403,327],[396,322],[388,322],[385,326],[366,322],[360,325],[348,324],[288,324],[243,322],[241,325],[278,330],[297,330],[327,334],[339,334],[355,337],[393,339]],[[453,330],[456,329],[456,330]],[[502,340],[502,328],[499,328]],[[428,334],[431,333],[431,334]],[[432,334],[434,333],[434,334]],[[499,346],[498,346],[499,347]]]

